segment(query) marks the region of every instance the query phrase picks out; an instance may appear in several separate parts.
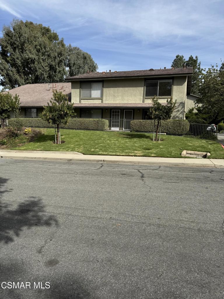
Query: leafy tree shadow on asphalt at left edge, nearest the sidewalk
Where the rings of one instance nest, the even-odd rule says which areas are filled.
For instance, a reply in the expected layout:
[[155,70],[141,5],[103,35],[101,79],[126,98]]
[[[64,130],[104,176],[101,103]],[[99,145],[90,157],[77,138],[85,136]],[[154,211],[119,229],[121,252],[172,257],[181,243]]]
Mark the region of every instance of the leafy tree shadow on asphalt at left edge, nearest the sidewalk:
[[40,198],[30,197],[20,202],[15,209],[4,202],[1,199],[4,193],[11,192],[11,189],[2,190],[7,181],[0,177],[0,242],[13,242],[24,228],[58,225],[54,215],[46,215],[45,205]]

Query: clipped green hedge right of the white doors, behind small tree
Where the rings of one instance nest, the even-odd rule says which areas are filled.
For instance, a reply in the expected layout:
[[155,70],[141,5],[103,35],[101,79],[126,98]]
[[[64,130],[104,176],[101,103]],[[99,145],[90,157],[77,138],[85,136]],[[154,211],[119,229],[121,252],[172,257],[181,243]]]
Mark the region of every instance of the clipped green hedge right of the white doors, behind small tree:
[[[157,121],[155,121],[155,126],[156,125]],[[131,120],[131,130],[134,132],[153,132],[154,120]],[[188,131],[189,123],[187,120],[169,119],[161,121],[161,133],[184,135]]]

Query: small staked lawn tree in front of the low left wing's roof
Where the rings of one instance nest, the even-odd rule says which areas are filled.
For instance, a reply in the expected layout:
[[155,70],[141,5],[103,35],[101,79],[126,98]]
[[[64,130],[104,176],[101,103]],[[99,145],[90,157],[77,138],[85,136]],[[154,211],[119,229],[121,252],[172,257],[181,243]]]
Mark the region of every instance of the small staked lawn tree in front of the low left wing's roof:
[[44,106],[40,117],[48,123],[57,126],[57,141],[55,132],[55,143],[61,144],[60,126],[62,124],[66,125],[73,115],[76,115],[76,113],[73,109],[73,103],[68,101],[67,94],[63,94],[62,91],[53,90],[53,97],[50,103]]

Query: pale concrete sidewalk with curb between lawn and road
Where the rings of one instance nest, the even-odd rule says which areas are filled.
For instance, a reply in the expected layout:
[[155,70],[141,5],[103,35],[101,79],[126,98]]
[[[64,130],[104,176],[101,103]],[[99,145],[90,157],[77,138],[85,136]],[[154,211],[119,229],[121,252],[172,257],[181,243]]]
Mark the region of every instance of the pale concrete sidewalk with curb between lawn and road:
[[130,156],[101,156],[83,155],[78,152],[47,152],[0,150],[0,158],[27,159],[49,161],[92,161],[101,163],[129,163],[196,167],[224,167],[224,159],[197,159],[197,158],[156,158],[156,157],[130,157]]

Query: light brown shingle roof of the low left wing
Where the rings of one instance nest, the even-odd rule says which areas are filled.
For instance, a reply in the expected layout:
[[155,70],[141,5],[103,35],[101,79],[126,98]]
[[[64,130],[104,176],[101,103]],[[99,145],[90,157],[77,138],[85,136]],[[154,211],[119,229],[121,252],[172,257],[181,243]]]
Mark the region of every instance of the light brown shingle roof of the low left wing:
[[48,83],[26,84],[23,86],[10,89],[12,95],[19,95],[20,106],[25,107],[42,107],[50,102],[52,97],[52,90],[57,89],[68,95],[68,100],[71,101],[71,83],[50,83],[50,90],[48,90]]

